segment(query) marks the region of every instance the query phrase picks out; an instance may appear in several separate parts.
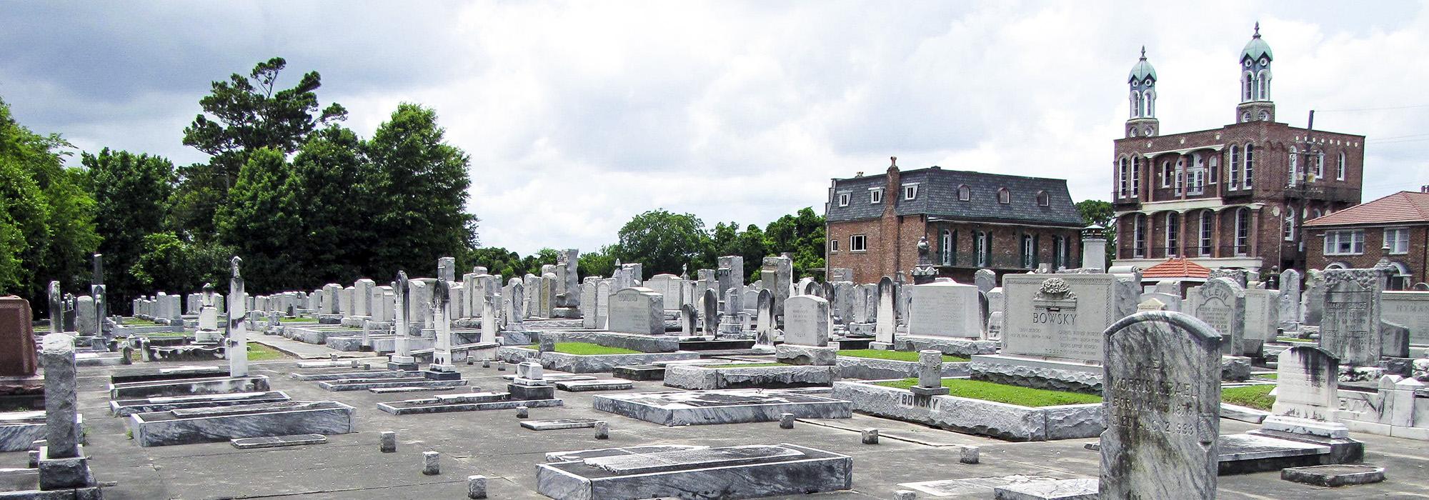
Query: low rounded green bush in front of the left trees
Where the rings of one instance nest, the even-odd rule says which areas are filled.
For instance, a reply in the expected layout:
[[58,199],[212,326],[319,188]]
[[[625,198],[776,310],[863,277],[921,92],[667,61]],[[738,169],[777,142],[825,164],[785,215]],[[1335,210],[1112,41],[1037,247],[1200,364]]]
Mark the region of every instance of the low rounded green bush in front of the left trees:
[[[190,243],[173,233],[154,233],[143,239],[144,253],[131,271],[146,290],[183,293],[213,283],[219,290],[229,277],[229,259],[234,250],[217,243]],[[247,276],[247,260],[244,260]]]

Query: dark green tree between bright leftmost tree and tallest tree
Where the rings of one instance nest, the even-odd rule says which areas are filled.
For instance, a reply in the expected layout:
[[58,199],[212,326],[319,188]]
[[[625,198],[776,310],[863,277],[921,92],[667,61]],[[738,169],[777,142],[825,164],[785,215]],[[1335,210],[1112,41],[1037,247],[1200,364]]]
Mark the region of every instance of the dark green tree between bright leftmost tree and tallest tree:
[[143,253],[144,236],[164,230],[174,166],[163,157],[107,147],[99,154],[81,154],[80,163],[94,194],[94,221],[103,237],[99,251],[104,254],[109,300],[123,304],[146,293],[130,267]]

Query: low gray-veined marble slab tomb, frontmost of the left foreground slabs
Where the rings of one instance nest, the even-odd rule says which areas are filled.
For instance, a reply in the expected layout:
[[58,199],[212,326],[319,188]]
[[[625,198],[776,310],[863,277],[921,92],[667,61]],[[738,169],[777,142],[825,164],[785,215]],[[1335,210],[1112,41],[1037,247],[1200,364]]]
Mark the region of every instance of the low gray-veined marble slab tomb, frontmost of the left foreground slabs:
[[236,437],[346,434],[356,409],[339,401],[283,401],[129,416],[139,446],[227,441]]

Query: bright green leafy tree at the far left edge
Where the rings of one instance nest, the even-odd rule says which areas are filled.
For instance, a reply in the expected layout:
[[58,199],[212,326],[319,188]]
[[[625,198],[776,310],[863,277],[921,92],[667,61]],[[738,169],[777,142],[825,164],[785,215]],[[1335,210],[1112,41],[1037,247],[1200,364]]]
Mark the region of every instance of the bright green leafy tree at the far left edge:
[[100,241],[84,173],[64,167],[69,147],[19,124],[0,101],[0,289],[29,299],[37,313],[50,280],[89,293],[81,283]]

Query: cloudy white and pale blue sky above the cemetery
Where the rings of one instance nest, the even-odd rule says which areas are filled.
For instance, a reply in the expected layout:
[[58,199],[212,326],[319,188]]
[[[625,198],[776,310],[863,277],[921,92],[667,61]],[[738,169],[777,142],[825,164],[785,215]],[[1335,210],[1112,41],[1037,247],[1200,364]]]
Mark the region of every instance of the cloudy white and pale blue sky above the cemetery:
[[1163,133],[1233,120],[1252,24],[1280,121],[1368,139],[1366,200],[1429,184],[1425,3],[7,3],[0,97],[81,150],[174,163],[211,80],[282,56],[367,137],[434,107],[482,240],[594,249],[652,209],[763,226],[899,166],[1106,199],[1140,47]]

